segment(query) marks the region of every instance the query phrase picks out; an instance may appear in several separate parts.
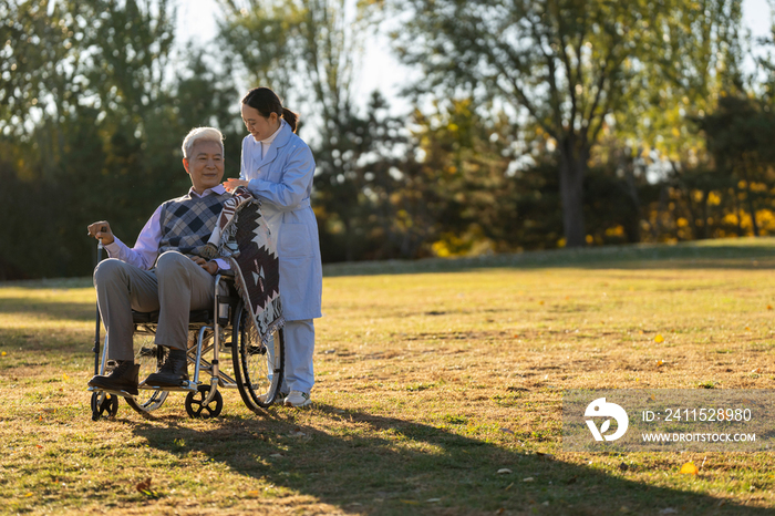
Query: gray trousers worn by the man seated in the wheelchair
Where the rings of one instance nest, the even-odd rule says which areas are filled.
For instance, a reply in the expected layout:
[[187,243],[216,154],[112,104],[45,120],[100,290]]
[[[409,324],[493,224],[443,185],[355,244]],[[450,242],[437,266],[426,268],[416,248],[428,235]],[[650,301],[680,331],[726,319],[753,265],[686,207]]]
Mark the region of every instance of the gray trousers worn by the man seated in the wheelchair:
[[97,305],[107,332],[107,358],[132,360],[132,310],[158,310],[156,345],[186,350],[188,314],[213,307],[215,281],[190,258],[167,251],[156,268],[143,270],[111,258],[94,269]]

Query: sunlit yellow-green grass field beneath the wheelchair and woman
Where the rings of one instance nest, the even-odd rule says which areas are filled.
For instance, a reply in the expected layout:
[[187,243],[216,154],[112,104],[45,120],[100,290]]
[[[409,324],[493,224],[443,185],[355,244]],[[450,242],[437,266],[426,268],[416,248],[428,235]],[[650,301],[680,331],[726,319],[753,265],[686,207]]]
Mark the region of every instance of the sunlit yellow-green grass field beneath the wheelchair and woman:
[[0,283],[0,514],[773,514],[772,452],[560,431],[565,389],[775,389],[774,269],[774,239],[329,267],[314,406],[207,421],[92,422],[90,281]]

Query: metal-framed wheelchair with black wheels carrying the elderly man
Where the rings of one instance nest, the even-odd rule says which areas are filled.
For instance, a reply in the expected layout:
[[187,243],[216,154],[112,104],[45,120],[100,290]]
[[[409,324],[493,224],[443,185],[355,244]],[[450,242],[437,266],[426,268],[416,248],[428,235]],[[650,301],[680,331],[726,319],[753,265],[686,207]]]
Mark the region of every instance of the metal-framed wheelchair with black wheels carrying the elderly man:
[[[97,262],[102,249],[97,250]],[[132,312],[134,322],[134,360],[140,364],[138,394],[126,391],[106,391],[89,388],[92,392],[92,420],[112,417],[118,412],[123,398],[136,412],[148,415],[164,404],[170,392],[186,393],[186,412],[190,417],[217,417],[224,406],[220,389],[237,389],[245,405],[258,414],[277,399],[285,370],[285,338],[276,329],[266,344],[261,342],[250,312],[237,296],[234,279],[215,276],[215,302],[211,310],[193,311],[188,323],[187,359],[194,364],[194,374],[176,388],[145,385],[144,379],[164,361],[164,348],[154,344],[158,312]],[[228,292],[224,295],[223,292]],[[100,345],[100,310],[96,314],[94,338],[94,374],[107,374],[107,336]],[[221,368],[221,355],[230,354],[230,365]],[[230,369],[230,371],[229,371]],[[190,368],[189,368],[190,372]],[[232,373],[229,374],[229,373]],[[209,375],[209,382],[207,378]]]

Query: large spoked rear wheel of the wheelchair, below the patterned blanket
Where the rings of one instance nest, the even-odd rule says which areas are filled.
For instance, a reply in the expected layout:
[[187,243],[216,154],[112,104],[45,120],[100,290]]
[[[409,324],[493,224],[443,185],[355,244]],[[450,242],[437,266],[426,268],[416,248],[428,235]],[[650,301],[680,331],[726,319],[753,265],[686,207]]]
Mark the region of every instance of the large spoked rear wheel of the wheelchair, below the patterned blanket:
[[269,345],[265,345],[241,303],[235,313],[231,358],[237,388],[247,407],[259,412],[275,402],[282,384],[283,334],[281,329],[276,330],[269,338]]

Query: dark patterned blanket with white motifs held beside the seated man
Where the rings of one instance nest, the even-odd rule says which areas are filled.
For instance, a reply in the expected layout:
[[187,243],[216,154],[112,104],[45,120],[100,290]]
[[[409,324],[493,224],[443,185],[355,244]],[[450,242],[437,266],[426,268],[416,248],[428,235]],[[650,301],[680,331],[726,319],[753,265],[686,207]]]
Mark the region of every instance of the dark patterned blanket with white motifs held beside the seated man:
[[242,302],[250,311],[261,342],[285,324],[280,302],[280,261],[261,216],[261,203],[240,186],[226,200],[213,235],[200,256],[231,264]]

